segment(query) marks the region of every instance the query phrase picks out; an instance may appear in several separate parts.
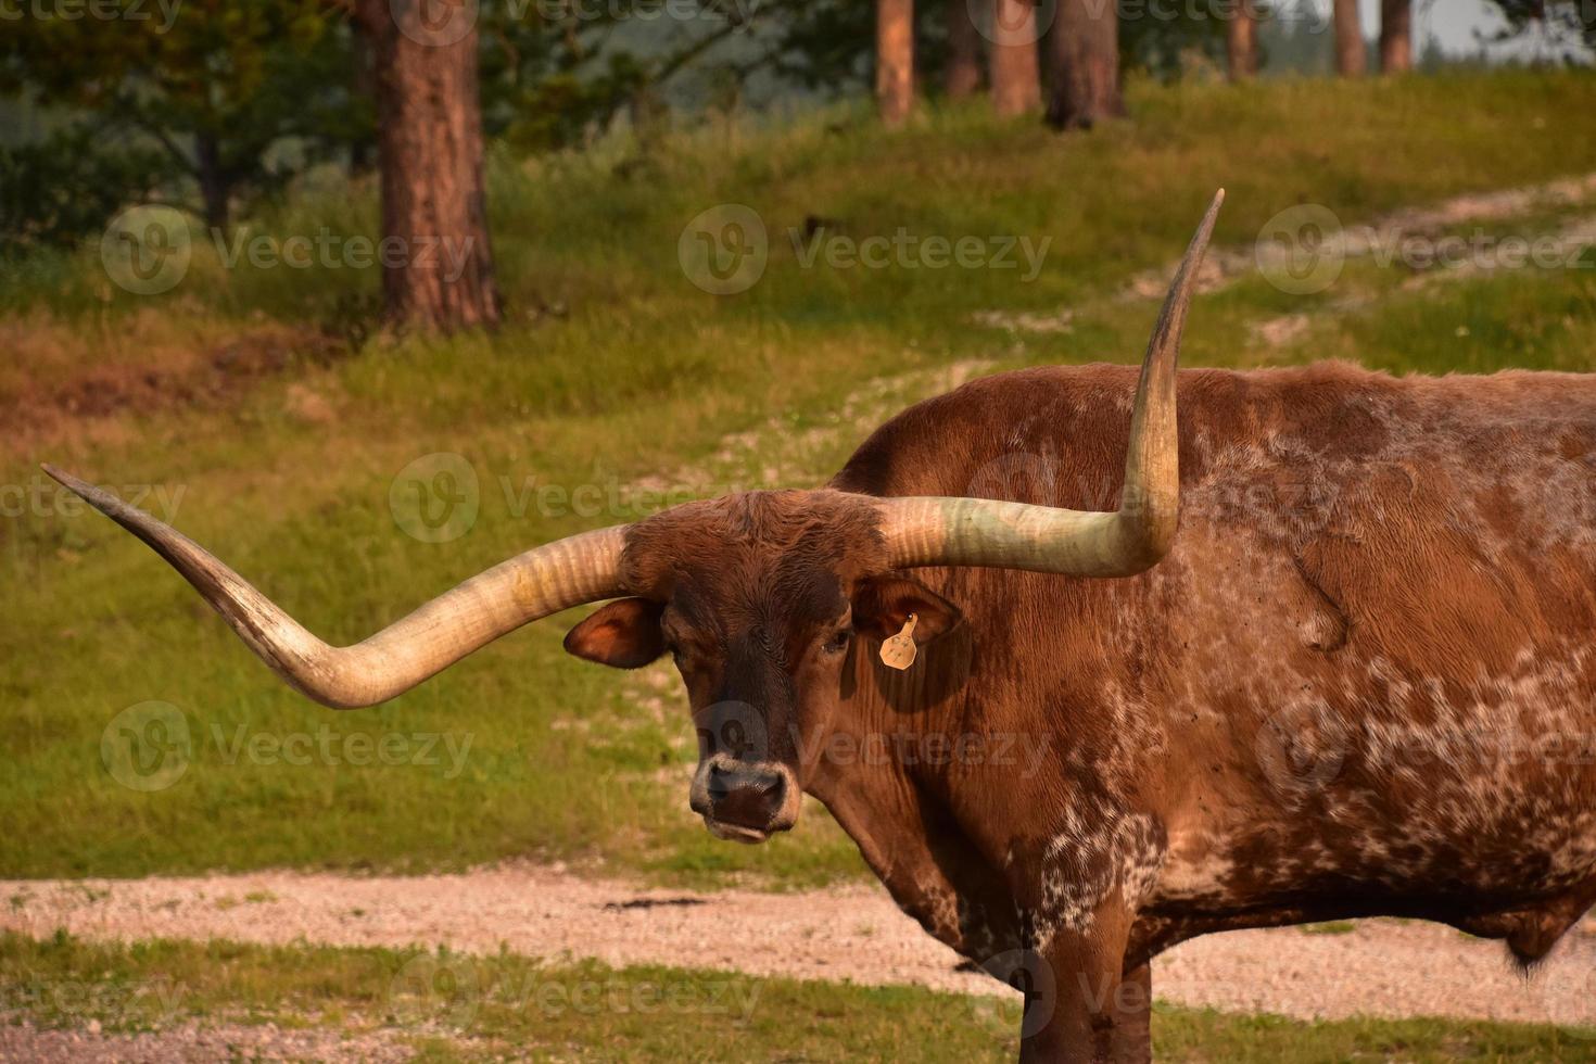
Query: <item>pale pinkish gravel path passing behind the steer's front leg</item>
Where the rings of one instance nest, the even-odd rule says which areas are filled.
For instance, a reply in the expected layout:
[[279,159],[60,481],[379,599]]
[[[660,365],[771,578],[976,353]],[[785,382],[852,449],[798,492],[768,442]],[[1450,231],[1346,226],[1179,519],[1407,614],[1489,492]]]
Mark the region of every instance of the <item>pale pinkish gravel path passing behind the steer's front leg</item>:
[[[3,881],[0,927],[46,936],[305,940],[501,946],[543,957],[669,964],[855,983],[998,992],[878,887],[693,893],[587,881],[549,868],[464,876],[260,873],[200,879]],[[1350,928],[1350,930],[1347,930]],[[1596,1024],[1596,933],[1577,928],[1534,978],[1500,943],[1430,924],[1366,920],[1195,940],[1156,962],[1159,997],[1286,1016],[1457,1016]],[[3,1053],[0,1053],[3,1056]]]

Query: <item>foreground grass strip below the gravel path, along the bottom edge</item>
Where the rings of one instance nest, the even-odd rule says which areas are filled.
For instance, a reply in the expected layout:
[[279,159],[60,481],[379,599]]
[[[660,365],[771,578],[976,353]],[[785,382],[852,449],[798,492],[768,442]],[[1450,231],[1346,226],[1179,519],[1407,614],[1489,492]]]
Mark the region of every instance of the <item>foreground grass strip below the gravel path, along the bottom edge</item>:
[[[1017,1051],[1018,1000],[597,962],[393,949],[0,935],[0,984],[38,1026],[107,1032],[278,1024],[383,1034],[418,1059],[986,1061]],[[1596,1059],[1588,1029],[1451,1019],[1299,1023],[1157,1003],[1160,1061]]]

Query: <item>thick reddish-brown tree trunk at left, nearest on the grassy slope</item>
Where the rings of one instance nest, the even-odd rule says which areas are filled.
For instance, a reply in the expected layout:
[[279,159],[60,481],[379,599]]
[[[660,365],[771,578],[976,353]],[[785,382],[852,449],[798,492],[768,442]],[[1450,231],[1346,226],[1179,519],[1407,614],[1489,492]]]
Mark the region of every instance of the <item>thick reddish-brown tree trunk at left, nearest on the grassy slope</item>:
[[474,5],[359,0],[377,81],[383,298],[394,324],[496,325]]

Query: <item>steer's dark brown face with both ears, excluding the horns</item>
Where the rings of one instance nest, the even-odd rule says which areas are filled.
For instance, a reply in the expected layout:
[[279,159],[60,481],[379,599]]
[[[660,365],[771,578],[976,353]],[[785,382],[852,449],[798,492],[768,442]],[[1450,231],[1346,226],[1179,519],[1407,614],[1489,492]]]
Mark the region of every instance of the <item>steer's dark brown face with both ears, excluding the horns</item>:
[[918,581],[871,568],[873,515],[852,507],[749,493],[650,518],[626,557],[648,593],[600,606],[565,638],[619,668],[672,654],[699,737],[689,804],[718,837],[761,842],[796,823],[852,654],[876,652],[911,613],[919,641],[958,621]]

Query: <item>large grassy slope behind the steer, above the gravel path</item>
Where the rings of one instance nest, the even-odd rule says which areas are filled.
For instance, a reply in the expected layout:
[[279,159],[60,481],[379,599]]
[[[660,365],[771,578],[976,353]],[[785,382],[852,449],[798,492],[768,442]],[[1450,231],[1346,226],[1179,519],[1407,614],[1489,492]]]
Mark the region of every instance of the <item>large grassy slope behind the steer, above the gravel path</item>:
[[[112,286],[97,242],[11,266],[0,876],[420,871],[512,855],[697,885],[867,876],[820,809],[764,847],[710,839],[686,810],[693,737],[670,673],[563,656],[576,614],[388,705],[329,713],[282,688],[142,546],[69,510],[34,463],[153,488],[147,507],[174,509],[311,630],[354,641],[528,544],[640,515],[658,493],[626,488],[646,479],[685,495],[819,483],[950,367],[1136,357],[1154,301],[1120,298],[1124,286],[1178,255],[1215,187],[1231,193],[1216,239],[1245,247],[1298,203],[1352,223],[1586,174],[1593,104],[1586,72],[1140,85],[1135,121],[1090,136],[980,107],[883,134],[843,108],[686,131],[646,158],[626,140],[496,155],[509,322],[447,341],[346,346],[377,290],[370,271],[227,268],[203,238],[158,297]],[[764,276],[733,297],[701,292],[677,258],[688,220],[723,203],[753,207],[771,238]],[[788,231],[811,217],[849,239],[902,228],[1050,244],[1031,282],[998,268],[803,268]],[[373,190],[322,175],[249,225],[279,239],[370,233]],[[1304,297],[1250,274],[1202,298],[1186,361],[1588,368],[1593,274],[1412,287],[1404,270],[1349,262]],[[1066,332],[978,317],[1060,308],[1074,311]],[[1290,341],[1254,333],[1290,314],[1306,317]],[[477,479],[474,522],[447,542],[404,531],[413,483],[401,471],[437,453]],[[123,785],[107,766],[128,751],[164,775]]]

